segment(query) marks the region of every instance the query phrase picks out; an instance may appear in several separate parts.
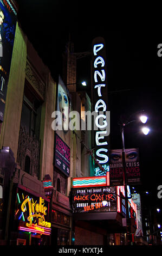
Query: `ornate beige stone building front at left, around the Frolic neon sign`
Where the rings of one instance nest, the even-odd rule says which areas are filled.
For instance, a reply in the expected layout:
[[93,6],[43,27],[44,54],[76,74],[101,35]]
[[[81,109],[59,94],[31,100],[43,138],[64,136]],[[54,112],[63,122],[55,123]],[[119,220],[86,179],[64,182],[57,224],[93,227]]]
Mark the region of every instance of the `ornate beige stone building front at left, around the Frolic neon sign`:
[[[44,223],[49,222],[50,200],[42,180],[47,174],[53,179],[51,113],[55,110],[55,98],[56,83],[17,22],[0,135],[1,244],[49,243],[50,231],[46,234],[44,230],[51,227],[40,224],[42,233],[38,228],[32,232],[31,225],[31,232],[24,232],[27,226],[23,225],[24,230],[21,227],[22,222],[29,224],[29,216],[34,213],[42,216]],[[31,202],[24,203],[25,197],[33,202],[31,212]],[[43,203],[46,206],[42,206],[41,215],[38,207],[41,209]]]

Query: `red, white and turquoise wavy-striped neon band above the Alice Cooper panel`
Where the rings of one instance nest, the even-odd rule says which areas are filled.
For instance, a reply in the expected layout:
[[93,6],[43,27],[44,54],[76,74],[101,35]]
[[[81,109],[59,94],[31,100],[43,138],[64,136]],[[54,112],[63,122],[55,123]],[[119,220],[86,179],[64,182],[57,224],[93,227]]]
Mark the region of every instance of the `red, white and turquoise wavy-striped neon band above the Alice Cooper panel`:
[[73,178],[73,187],[100,187],[109,186],[109,172],[106,176]]

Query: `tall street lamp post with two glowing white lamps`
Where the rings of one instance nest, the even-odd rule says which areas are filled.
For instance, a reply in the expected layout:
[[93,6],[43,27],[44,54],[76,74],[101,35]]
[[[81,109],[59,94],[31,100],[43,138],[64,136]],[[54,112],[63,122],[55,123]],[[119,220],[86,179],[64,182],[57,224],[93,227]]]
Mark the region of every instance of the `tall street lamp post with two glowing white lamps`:
[[[140,111],[140,112],[144,112],[144,111]],[[140,113],[137,112],[137,113]],[[134,113],[134,114],[137,114]],[[132,115],[131,115],[132,116]],[[142,123],[146,123],[147,121],[147,117],[145,115],[142,115],[140,117],[140,120]],[[132,123],[136,120],[131,120],[131,121],[126,121],[123,122],[122,120],[120,121],[120,123],[118,123],[121,127],[121,137],[122,137],[122,169],[123,169],[123,174],[124,174],[124,188],[125,188],[125,205],[126,205],[126,245],[129,244],[129,212],[128,212],[128,193],[127,193],[127,173],[126,173],[126,160],[125,160],[125,139],[124,139],[124,128],[126,125],[128,125],[129,123]],[[142,132],[147,135],[149,133],[149,129],[147,128],[147,131],[145,130],[146,127],[143,128]]]

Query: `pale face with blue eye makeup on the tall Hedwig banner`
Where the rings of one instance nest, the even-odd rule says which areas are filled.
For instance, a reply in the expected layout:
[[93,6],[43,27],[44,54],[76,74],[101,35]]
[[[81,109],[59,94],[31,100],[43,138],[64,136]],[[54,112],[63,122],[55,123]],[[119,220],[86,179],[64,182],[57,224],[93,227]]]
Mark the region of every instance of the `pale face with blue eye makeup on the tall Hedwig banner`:
[[66,91],[59,84],[58,92],[59,108],[62,114],[62,129],[68,131],[69,128],[69,100]]

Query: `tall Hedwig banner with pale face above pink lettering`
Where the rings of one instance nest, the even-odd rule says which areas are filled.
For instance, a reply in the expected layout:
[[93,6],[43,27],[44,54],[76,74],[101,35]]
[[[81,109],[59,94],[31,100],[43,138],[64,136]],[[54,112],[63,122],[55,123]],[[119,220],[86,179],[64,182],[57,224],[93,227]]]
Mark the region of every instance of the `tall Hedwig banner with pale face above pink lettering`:
[[54,165],[67,176],[70,174],[70,108],[70,94],[59,76],[57,88],[57,130],[55,131]]

